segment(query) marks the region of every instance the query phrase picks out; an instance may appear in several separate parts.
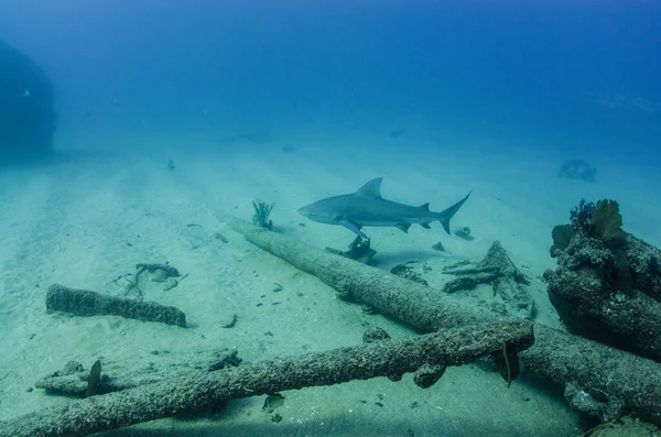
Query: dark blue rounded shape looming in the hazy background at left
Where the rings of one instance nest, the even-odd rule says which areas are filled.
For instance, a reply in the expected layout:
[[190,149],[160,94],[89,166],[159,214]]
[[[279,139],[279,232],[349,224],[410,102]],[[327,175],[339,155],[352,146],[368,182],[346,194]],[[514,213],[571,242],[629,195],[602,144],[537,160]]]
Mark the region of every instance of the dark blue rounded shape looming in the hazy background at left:
[[53,151],[53,86],[28,56],[0,41],[0,157],[42,157]]

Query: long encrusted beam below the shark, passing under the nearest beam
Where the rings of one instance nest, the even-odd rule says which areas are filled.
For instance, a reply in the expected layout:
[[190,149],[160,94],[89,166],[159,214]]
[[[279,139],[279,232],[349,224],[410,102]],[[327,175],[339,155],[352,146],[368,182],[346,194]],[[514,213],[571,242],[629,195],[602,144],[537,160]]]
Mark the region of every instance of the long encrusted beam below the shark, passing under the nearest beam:
[[[424,331],[503,317],[246,221],[232,217],[224,221],[249,242],[317,276],[340,295]],[[520,354],[523,370],[564,386],[574,408],[602,420],[635,413],[661,424],[661,364],[543,325],[535,325],[535,332],[534,346]]]

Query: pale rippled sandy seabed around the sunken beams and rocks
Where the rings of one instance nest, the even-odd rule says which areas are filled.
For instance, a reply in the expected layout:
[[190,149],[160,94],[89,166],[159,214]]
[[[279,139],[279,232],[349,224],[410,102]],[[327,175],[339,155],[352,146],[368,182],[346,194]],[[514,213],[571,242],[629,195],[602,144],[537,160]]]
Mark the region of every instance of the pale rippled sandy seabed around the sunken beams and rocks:
[[[414,335],[380,315],[339,301],[313,276],[260,251],[223,223],[224,215],[250,220],[251,200],[274,203],[279,232],[314,247],[345,249],[347,229],[306,221],[296,209],[323,197],[351,193],[382,176],[387,199],[440,211],[473,190],[452,221],[473,240],[447,236],[440,223],[366,228],[378,251],[373,264],[390,270],[425,263],[425,280],[440,287],[444,265],[478,261],[500,240],[530,276],[538,323],[560,327],[541,275],[554,266],[551,229],[568,220],[581,197],[619,201],[625,229],[661,242],[654,184],[633,168],[596,162],[595,184],[557,177],[564,159],[529,149],[469,153],[466,148],[346,145],[300,139],[283,144],[238,142],[196,148],[194,139],[153,139],[144,152],[69,152],[52,163],[0,168],[0,419],[72,402],[30,390],[68,360],[104,372],[188,359],[236,348],[246,362],[361,342],[367,327],[394,338]],[[182,148],[182,143],[186,148]],[[119,144],[119,143],[118,143]],[[124,143],[121,143],[124,144]],[[151,145],[151,146],[150,146]],[[158,148],[156,148],[158,145]],[[152,152],[150,152],[150,150]],[[154,152],[156,151],[158,152]],[[170,171],[167,161],[175,163]],[[622,175],[628,175],[622,178]],[[223,234],[227,242],[218,238]],[[432,250],[441,241],[445,252]],[[145,299],[186,313],[185,329],[120,317],[68,317],[45,312],[53,283],[121,295],[117,280],[141,262],[176,266],[188,276]],[[274,283],[282,291],[274,293]],[[488,287],[466,293],[490,298]],[[224,328],[236,315],[237,323]],[[154,354],[158,351],[158,356]],[[285,392],[277,408],[263,396],[231,402],[220,412],[167,418],[110,431],[112,436],[574,436],[578,417],[557,387],[523,375],[510,389],[481,364],[452,368],[438,383],[419,389],[411,375]]]

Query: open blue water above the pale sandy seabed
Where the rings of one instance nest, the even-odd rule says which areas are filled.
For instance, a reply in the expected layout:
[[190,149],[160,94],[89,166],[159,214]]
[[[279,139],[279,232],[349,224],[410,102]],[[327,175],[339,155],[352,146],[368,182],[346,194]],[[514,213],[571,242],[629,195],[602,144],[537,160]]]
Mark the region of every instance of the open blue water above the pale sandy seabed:
[[642,0],[0,4],[0,37],[56,86],[61,135],[415,117],[437,141],[641,165],[661,162],[659,22]]

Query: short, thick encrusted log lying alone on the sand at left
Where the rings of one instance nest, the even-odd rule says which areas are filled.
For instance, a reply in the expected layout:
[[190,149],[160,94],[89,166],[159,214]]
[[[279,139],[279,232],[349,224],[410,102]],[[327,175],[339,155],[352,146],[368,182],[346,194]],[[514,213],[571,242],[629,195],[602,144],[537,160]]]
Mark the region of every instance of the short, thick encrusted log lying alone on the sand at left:
[[121,316],[142,321],[186,327],[186,315],[173,307],[155,302],[143,302],[102,295],[87,289],[75,289],[59,284],[48,287],[47,313],[66,313],[74,316]]

